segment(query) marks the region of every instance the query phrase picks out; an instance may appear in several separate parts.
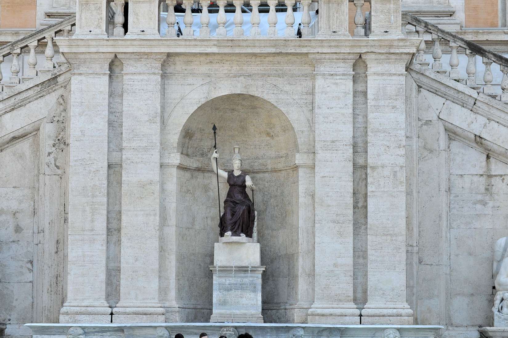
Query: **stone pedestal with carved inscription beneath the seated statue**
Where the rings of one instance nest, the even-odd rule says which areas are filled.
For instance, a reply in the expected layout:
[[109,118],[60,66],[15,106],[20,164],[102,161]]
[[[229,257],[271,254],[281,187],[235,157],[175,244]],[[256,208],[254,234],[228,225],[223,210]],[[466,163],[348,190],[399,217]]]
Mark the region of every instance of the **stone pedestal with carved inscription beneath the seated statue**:
[[[227,239],[227,241],[225,240]],[[245,237],[215,243],[211,323],[263,323],[261,315],[261,247]]]

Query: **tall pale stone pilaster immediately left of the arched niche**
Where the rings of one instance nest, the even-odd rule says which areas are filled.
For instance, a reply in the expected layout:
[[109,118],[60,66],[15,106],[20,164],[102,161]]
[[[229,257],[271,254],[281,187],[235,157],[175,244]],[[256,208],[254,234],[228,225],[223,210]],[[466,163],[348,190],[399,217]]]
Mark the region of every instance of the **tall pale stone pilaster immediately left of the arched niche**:
[[113,322],[164,322],[158,275],[161,67],[166,54],[117,56],[123,62],[122,249]]

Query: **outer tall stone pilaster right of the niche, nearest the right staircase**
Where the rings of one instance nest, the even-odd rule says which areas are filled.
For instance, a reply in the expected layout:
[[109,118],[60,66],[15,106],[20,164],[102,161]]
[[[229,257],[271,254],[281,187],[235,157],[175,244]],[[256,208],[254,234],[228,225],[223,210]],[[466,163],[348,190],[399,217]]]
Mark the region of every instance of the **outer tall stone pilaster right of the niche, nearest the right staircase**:
[[406,54],[366,53],[367,304],[362,324],[413,323],[406,303]]

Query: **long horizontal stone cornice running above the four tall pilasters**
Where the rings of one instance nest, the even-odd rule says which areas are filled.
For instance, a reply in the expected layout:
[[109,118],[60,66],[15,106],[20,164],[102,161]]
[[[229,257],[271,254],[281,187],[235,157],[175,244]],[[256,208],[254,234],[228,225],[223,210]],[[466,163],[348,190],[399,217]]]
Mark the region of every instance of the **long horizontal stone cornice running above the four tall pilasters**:
[[57,38],[63,53],[415,53],[418,38]]

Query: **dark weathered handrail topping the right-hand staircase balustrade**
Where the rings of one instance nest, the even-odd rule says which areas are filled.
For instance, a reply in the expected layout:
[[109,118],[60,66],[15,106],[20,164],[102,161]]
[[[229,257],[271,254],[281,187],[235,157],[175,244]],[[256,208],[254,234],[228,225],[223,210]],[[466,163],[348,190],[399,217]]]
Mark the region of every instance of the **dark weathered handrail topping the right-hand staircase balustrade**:
[[484,56],[484,57],[492,60],[494,63],[496,63],[498,65],[508,66],[508,58],[502,56],[501,54],[498,54],[496,52],[488,50],[488,49],[486,49],[486,48],[484,48],[484,47],[480,46],[479,44],[474,43],[472,41],[463,39],[463,38],[459,37],[458,35],[448,32],[448,30],[439,28],[438,26],[436,26],[428,21],[422,20],[417,16],[411,15],[409,13],[402,13],[402,21],[403,22],[407,21],[408,24],[410,24],[410,25],[424,28],[428,32],[435,34],[435,35],[443,38],[444,40],[452,41],[452,42],[458,44],[459,46],[461,46],[465,49],[468,49],[477,55]]

